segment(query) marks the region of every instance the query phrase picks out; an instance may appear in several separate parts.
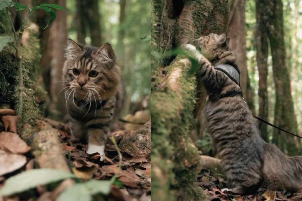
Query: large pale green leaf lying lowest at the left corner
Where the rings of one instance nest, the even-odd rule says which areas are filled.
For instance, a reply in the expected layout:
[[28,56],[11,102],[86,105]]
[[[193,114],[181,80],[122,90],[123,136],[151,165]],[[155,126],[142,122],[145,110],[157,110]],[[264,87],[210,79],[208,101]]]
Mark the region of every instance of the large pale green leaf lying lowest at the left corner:
[[38,185],[44,185],[67,178],[76,178],[76,175],[62,170],[46,168],[28,170],[6,180],[5,185],[0,190],[0,195],[9,196]]

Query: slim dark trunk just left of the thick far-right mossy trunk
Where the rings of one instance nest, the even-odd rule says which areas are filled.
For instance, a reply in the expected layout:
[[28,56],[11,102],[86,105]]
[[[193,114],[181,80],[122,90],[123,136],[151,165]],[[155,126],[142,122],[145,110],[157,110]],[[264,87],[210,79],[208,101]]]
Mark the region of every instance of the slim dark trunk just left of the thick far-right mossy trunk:
[[[266,34],[265,20],[262,15],[261,2],[256,1],[256,36],[257,45],[257,66],[259,71],[259,113],[258,116],[268,121],[268,91],[267,91],[267,57],[268,57],[268,37]],[[261,137],[268,142],[267,124],[259,121],[258,123]]]

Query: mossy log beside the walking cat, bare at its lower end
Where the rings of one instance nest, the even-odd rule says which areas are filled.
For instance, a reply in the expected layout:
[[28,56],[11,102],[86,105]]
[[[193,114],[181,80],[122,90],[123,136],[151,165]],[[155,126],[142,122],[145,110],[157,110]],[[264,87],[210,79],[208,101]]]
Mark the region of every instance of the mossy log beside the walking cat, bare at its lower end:
[[[0,12],[0,34],[10,34],[7,16]],[[55,168],[69,171],[58,133],[42,119],[46,92],[38,83],[40,45],[38,27],[31,24],[22,38],[21,58],[23,72],[23,115],[18,122],[18,134],[32,147],[40,168]],[[18,108],[18,67],[15,49],[7,45],[0,52],[0,108]]]

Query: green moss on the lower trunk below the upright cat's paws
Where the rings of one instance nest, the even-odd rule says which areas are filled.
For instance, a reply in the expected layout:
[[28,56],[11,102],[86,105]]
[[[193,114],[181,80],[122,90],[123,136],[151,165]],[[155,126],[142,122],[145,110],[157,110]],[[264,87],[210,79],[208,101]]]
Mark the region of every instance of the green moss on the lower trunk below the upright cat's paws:
[[[158,68],[158,80],[154,81],[151,94],[151,158],[152,158],[152,199],[173,200],[175,192],[180,200],[198,200],[204,198],[202,189],[194,184],[198,174],[199,152],[189,139],[194,126],[193,110],[196,103],[195,77],[186,71],[189,65],[177,57],[164,71],[167,75],[175,68],[184,69],[178,78],[180,94],[167,85],[166,76]],[[165,83],[165,86],[163,86]],[[161,87],[159,87],[161,86]],[[172,162],[173,161],[173,162]],[[165,175],[165,186],[162,186],[161,174]],[[155,170],[154,170],[155,169]],[[163,193],[164,192],[164,193]]]

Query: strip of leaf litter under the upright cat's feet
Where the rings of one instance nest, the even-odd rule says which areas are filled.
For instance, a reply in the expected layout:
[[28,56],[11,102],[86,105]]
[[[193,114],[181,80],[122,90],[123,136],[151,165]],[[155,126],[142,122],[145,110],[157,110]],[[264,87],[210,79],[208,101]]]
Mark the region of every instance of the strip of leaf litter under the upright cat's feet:
[[277,200],[302,200],[302,192],[296,192],[293,190],[282,190],[282,191],[270,191],[265,187],[260,187],[254,195],[234,195],[227,189],[227,183],[224,180],[224,176],[217,174],[214,175],[210,170],[202,169],[197,177],[197,184],[204,189],[204,193],[209,200],[232,200],[232,201],[243,201],[243,200],[266,200],[266,201],[277,201]]

